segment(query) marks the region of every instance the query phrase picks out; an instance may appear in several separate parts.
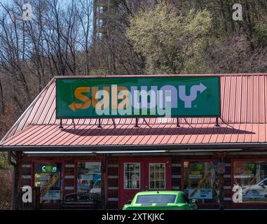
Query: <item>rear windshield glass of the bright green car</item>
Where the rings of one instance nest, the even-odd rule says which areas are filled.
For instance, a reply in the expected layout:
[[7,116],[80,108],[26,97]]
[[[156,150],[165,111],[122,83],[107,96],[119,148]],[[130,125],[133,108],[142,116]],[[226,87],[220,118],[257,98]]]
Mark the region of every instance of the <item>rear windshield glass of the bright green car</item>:
[[139,195],[136,204],[174,203],[176,195]]

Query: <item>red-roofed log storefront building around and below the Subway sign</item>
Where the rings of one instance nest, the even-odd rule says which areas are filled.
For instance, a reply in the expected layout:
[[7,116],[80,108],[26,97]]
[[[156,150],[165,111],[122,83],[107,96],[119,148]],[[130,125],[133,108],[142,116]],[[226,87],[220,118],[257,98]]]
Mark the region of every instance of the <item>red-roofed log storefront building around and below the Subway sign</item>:
[[[190,77],[199,83],[198,76]],[[153,118],[85,118],[79,110],[89,108],[80,105],[86,100],[74,102],[69,106],[72,112],[66,112],[68,105],[56,97],[60,78],[54,78],[0,142],[0,150],[9,152],[15,166],[13,208],[23,208],[23,203],[15,203],[23,186],[40,190],[41,209],[64,209],[69,204],[77,209],[121,209],[143,190],[183,190],[200,209],[266,208],[267,74],[217,77],[219,117],[217,105],[212,103],[210,112],[206,101],[191,100],[192,109],[201,103],[203,111],[211,113],[204,118],[160,118],[160,111]],[[203,85],[207,90],[199,89],[198,94],[212,94],[205,80]],[[99,94],[104,102],[105,93]],[[189,95],[186,90],[180,97]],[[97,110],[97,103],[91,104]],[[178,108],[181,105],[177,102]],[[81,118],[71,117],[76,111]],[[59,118],[61,113],[66,118]]]

